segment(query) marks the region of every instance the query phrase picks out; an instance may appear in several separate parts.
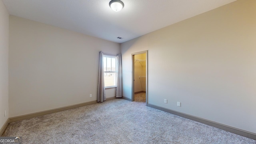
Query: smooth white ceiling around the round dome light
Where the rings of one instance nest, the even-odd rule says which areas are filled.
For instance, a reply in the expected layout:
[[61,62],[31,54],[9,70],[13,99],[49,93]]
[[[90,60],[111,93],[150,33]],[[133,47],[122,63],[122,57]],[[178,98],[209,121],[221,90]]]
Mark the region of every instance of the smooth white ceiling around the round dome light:
[[[122,43],[236,0],[2,0],[9,14]],[[122,37],[123,39],[118,39]]]

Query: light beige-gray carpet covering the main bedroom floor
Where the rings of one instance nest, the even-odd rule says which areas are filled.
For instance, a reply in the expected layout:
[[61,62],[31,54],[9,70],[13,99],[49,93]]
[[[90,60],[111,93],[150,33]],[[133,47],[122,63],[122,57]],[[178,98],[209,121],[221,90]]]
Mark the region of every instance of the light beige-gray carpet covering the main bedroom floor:
[[22,144],[256,144],[124,99],[12,122],[3,136],[22,136]]

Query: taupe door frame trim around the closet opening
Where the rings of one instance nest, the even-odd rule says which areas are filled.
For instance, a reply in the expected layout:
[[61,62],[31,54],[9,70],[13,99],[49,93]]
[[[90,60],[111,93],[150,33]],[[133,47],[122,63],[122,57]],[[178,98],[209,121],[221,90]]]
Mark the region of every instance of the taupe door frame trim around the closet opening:
[[146,106],[148,106],[148,50],[132,53],[132,102],[134,101],[134,55],[146,54]]

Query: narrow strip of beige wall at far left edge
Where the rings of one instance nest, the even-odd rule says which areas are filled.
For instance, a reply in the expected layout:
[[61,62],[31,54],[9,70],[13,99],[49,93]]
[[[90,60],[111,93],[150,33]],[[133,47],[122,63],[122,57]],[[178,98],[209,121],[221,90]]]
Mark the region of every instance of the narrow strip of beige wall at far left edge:
[[[9,116],[8,106],[8,46],[9,13],[0,0],[0,129]],[[6,110],[6,117],[4,111]]]

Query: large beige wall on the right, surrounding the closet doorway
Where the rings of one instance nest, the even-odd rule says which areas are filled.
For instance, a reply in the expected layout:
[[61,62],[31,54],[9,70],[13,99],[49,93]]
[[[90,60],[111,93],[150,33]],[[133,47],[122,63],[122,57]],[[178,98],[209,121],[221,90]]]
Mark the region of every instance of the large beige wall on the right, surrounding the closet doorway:
[[148,50],[148,103],[256,133],[255,46],[256,0],[124,42],[123,96],[131,98],[131,54]]

